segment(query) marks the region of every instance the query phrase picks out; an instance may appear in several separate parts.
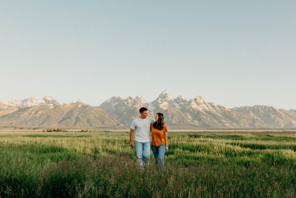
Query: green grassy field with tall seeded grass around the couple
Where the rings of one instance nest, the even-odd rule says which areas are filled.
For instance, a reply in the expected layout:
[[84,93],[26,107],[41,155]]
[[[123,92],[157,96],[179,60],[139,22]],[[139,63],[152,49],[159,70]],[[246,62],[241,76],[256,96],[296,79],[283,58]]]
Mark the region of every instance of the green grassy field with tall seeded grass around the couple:
[[0,197],[296,197],[296,134],[169,133],[165,173],[123,133],[0,133]]

